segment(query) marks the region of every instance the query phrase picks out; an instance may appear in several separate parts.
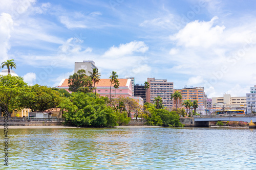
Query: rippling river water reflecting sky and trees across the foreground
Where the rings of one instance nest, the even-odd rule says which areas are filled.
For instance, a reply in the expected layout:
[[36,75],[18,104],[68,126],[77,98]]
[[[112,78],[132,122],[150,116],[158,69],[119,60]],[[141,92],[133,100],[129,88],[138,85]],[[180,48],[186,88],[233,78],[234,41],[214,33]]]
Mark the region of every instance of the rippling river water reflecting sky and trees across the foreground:
[[8,133],[8,169],[256,169],[256,129],[10,129]]

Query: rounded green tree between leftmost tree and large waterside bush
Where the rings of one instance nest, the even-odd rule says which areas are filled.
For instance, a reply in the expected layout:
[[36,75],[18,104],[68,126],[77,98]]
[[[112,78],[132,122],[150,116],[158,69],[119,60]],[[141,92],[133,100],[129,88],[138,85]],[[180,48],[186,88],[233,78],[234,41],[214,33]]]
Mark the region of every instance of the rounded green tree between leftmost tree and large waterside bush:
[[62,100],[58,91],[38,84],[24,90],[20,98],[22,106],[30,108],[33,112],[56,108]]

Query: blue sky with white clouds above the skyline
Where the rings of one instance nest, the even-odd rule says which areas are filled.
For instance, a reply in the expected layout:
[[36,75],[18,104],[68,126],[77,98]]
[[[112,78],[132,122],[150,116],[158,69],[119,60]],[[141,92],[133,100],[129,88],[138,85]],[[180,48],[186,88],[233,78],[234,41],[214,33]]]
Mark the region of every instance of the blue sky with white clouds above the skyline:
[[[57,86],[74,62],[101,78],[148,77],[245,96],[256,84],[255,1],[1,0],[0,62],[29,84]],[[2,68],[1,68],[2,69]]]

